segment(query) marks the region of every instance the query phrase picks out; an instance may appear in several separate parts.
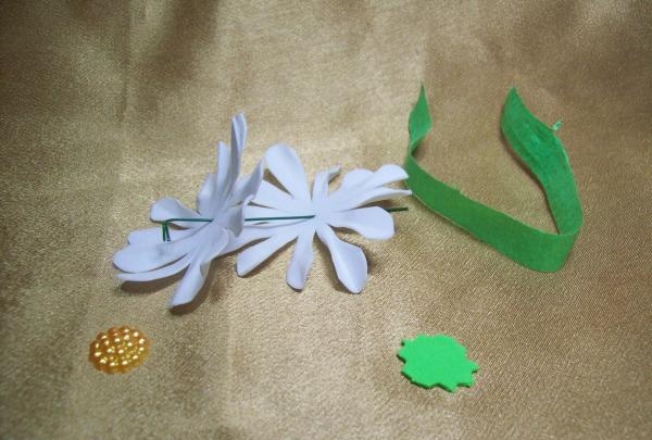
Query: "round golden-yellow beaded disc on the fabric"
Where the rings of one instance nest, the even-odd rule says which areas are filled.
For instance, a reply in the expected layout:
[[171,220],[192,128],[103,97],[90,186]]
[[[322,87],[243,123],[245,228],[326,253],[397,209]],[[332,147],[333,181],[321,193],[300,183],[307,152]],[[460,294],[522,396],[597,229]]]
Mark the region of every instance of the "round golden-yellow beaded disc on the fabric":
[[104,373],[127,373],[149,354],[149,340],[137,328],[111,327],[90,343],[88,360]]

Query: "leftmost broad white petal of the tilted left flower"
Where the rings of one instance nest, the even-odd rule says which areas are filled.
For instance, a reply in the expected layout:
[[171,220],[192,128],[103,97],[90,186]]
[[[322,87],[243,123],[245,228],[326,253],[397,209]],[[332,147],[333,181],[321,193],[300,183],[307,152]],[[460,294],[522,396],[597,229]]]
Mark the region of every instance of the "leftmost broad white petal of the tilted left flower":
[[148,272],[170,264],[201,246],[203,230],[177,241],[129,244],[117,251],[113,264],[123,272]]

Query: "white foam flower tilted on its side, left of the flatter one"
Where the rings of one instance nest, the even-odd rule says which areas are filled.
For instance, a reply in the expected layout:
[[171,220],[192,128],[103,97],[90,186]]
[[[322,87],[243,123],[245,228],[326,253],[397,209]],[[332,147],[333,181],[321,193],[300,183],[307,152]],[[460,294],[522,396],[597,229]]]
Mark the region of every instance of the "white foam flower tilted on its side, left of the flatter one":
[[238,178],[240,160],[247,137],[247,123],[242,114],[231,121],[230,149],[217,146],[217,169],[210,173],[197,196],[197,211],[184,206],[178,200],[164,198],[151,208],[151,219],[211,218],[210,222],[173,222],[185,229],[171,229],[171,241],[163,241],[161,228],[135,230],[129,234],[128,246],[118,251],[113,263],[123,271],[118,278],[126,281],[150,281],[186,271],[177,287],[171,306],[186,304],[197,296],[204,284],[213,259],[235,250],[242,230],[242,210],[258,191],[263,177],[259,163],[248,176]]

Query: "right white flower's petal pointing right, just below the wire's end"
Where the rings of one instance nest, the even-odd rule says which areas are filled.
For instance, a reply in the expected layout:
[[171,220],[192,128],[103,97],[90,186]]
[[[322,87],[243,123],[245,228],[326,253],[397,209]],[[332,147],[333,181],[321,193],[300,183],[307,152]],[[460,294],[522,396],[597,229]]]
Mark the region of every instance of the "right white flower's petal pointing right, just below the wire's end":
[[352,229],[369,240],[388,240],[394,234],[391,214],[378,206],[329,213],[324,221],[330,226]]

